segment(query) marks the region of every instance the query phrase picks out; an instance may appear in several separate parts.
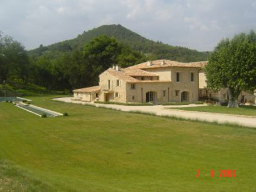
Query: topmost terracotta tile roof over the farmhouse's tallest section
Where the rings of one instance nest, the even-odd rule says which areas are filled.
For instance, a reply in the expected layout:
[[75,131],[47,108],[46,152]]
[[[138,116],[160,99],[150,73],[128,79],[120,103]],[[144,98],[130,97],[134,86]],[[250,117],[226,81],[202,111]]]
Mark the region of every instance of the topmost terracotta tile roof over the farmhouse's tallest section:
[[142,62],[138,65],[130,66],[126,69],[150,69],[150,68],[165,68],[165,67],[187,67],[187,68],[204,68],[208,61],[200,62],[177,62],[170,60],[156,60],[151,61],[151,65],[148,65],[148,62]]

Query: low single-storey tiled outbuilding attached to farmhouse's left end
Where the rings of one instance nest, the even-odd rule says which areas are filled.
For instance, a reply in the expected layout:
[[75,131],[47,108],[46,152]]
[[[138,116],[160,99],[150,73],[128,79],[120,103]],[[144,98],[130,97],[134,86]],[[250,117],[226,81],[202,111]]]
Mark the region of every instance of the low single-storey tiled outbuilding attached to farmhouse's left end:
[[98,100],[98,94],[100,93],[100,86],[86,87],[82,89],[73,90],[74,100],[93,102]]

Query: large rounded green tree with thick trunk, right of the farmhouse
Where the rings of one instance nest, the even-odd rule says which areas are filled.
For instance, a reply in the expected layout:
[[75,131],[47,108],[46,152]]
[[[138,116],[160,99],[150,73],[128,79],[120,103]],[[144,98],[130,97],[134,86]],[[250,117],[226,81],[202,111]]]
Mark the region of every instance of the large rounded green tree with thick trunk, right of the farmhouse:
[[238,107],[241,91],[256,88],[255,32],[222,40],[210,54],[205,74],[208,87],[214,90],[226,88],[228,107]]

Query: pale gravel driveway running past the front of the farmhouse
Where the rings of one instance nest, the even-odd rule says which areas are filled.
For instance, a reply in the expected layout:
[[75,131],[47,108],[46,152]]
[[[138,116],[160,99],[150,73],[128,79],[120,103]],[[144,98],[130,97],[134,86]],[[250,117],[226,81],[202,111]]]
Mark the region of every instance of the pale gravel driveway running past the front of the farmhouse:
[[[181,111],[170,109],[170,107],[187,107],[187,106],[123,106],[123,105],[105,105],[100,103],[87,103],[81,101],[72,101],[72,97],[65,98],[54,98],[55,101],[62,101],[67,103],[80,103],[83,105],[92,105],[96,107],[105,107],[105,108],[113,108],[115,110],[121,111],[141,111],[141,112],[150,112],[159,116],[175,116],[177,118],[184,119],[196,119],[207,122],[218,122],[218,123],[234,123],[239,124],[241,126],[247,127],[255,127],[256,128],[256,118],[255,117],[245,117],[240,115],[228,115],[228,114],[216,114],[216,113],[208,113],[208,112],[195,112],[195,111]],[[204,105],[189,105],[188,107],[195,106],[204,106]],[[166,108],[168,107],[168,109]]]

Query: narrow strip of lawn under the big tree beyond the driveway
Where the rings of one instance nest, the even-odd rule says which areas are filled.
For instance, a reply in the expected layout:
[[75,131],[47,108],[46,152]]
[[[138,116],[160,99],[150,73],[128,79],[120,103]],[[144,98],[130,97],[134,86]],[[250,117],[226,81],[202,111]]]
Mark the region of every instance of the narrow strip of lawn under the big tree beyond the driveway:
[[180,107],[178,110],[216,112],[220,114],[249,115],[256,116],[255,106],[240,106],[239,108],[228,108],[225,106],[203,106],[203,107]]

